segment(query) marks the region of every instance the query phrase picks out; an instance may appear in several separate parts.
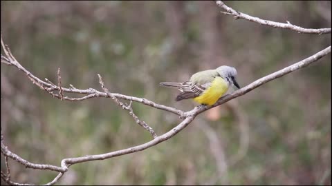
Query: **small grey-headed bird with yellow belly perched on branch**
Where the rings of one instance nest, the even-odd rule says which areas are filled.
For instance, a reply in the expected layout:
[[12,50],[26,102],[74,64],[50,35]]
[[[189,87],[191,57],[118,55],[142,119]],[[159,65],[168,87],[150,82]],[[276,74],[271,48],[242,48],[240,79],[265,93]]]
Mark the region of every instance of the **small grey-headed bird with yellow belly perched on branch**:
[[214,105],[232,85],[240,88],[237,83],[237,70],[226,65],[214,70],[196,72],[189,81],[183,83],[160,83],[160,86],[177,88],[181,92],[176,96],[175,101],[194,99],[201,105]]

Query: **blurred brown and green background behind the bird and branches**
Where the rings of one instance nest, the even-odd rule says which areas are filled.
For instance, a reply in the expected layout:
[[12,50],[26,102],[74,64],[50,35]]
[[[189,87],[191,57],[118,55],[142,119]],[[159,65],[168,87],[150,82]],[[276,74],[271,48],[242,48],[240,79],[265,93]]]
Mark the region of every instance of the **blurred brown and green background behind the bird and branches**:
[[[331,28],[331,1],[225,3],[262,19]],[[61,68],[65,87],[101,90],[101,74],[111,92],[185,111],[196,103],[176,103],[178,92],[161,81],[231,65],[245,86],[331,45],[331,34],[297,34],[220,11],[214,1],[1,1],[1,32],[21,65],[41,79],[57,82]],[[181,122],[142,104],[133,109],[158,135]],[[111,99],[60,101],[4,64],[1,130],[12,152],[57,166],[63,158],[151,140]],[[44,184],[57,175],[9,163],[19,183]],[[57,183],[76,184],[331,185],[331,54],[199,115],[168,141],[72,165]]]

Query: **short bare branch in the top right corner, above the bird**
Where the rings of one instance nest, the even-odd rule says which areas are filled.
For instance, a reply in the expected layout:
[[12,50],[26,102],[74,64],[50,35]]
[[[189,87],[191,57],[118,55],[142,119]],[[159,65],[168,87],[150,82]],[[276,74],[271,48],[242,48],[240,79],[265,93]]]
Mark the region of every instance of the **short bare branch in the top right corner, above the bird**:
[[293,30],[299,34],[330,34],[331,28],[319,28],[319,29],[313,29],[313,28],[302,28],[297,25],[291,24],[289,21],[286,21],[287,23],[279,23],[275,21],[268,21],[265,19],[259,19],[258,17],[252,17],[248,14],[243,14],[242,12],[238,12],[237,10],[234,10],[223,3],[223,1],[216,1],[216,5],[225,10],[226,12],[221,12],[226,15],[233,15],[234,19],[246,19],[248,21],[252,21],[255,23],[259,23],[261,25],[268,25],[272,26],[274,28],[284,28]]

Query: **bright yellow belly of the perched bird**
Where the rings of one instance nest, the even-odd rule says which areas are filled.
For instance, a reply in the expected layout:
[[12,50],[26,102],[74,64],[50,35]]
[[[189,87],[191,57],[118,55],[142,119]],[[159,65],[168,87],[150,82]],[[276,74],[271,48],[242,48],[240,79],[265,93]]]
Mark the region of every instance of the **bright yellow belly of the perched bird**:
[[201,94],[201,96],[197,96],[194,98],[194,101],[205,104],[205,105],[213,105],[216,101],[225,94],[228,90],[227,81],[223,80],[221,77],[216,77],[210,87]]

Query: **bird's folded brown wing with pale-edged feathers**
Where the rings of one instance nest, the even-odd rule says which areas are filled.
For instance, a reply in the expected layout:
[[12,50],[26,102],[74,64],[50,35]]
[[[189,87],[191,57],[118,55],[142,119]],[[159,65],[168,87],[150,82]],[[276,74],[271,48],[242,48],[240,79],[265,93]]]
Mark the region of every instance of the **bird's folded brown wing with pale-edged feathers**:
[[176,96],[176,101],[180,101],[183,99],[192,99],[197,96],[200,96],[208,87],[210,87],[211,83],[205,83],[203,85],[192,83],[191,81],[186,81],[183,83],[183,87],[179,89],[181,91],[178,96]]

